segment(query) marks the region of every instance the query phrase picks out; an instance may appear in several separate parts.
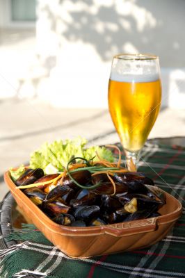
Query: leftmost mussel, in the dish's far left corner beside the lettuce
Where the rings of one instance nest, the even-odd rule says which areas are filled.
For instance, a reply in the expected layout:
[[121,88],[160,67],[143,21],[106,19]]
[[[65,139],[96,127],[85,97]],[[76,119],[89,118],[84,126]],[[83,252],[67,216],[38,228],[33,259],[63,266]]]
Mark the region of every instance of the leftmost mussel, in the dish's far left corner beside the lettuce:
[[41,168],[27,169],[24,174],[22,174],[18,179],[16,179],[16,186],[26,186],[27,184],[32,184],[40,177],[44,176],[44,171]]

